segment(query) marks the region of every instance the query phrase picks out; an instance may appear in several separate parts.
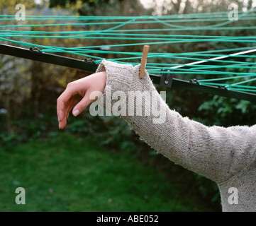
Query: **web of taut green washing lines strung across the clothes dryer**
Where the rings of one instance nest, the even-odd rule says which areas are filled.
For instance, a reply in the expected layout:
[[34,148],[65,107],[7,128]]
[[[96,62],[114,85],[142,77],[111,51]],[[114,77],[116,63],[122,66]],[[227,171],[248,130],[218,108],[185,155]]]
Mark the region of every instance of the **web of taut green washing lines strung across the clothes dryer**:
[[[0,40],[4,42],[12,42],[27,47],[38,47],[40,52],[45,53],[65,53],[74,54],[77,57],[89,57],[99,63],[104,57],[102,54],[111,54],[111,61],[120,64],[140,64],[142,57],[141,52],[125,52],[123,48],[143,46],[150,44],[158,47],[163,44],[186,44],[186,43],[240,43],[240,44],[254,44],[249,47],[237,47],[229,49],[212,49],[201,52],[185,52],[185,53],[165,53],[165,52],[150,52],[148,54],[147,70],[149,73],[168,73],[162,69],[170,68],[174,74],[184,76],[189,75],[208,75],[211,78],[198,80],[198,83],[205,85],[222,85],[230,90],[240,90],[245,92],[256,92],[256,35],[247,37],[238,36],[217,36],[217,35],[180,35],[180,34],[166,34],[165,32],[174,31],[201,31],[201,30],[255,30],[256,26],[239,26],[239,20],[244,22],[255,20],[256,15],[253,9],[249,11],[238,12],[238,21],[228,20],[229,12],[218,13],[194,13],[187,15],[169,15],[169,16],[26,16],[27,21],[16,22],[13,15],[0,15]],[[252,14],[253,13],[253,14]],[[42,23],[43,21],[54,20],[55,23]],[[58,23],[60,20],[85,20],[86,23]],[[30,24],[33,23],[34,24]],[[38,23],[35,23],[38,22]],[[204,26],[193,27],[191,23],[204,22]],[[205,23],[216,22],[216,24],[205,25]],[[218,23],[221,22],[221,23]],[[4,23],[4,24],[3,24]],[[175,24],[173,24],[175,23]],[[177,25],[179,23],[179,25]],[[189,23],[189,25],[188,25]],[[145,24],[159,24],[160,28],[141,28],[138,25]],[[103,29],[102,26],[108,26]],[[133,29],[121,29],[126,25],[135,26]],[[228,26],[227,26],[228,25]],[[231,26],[232,25],[232,26]],[[235,25],[235,26],[234,26]],[[89,26],[89,27],[88,27]],[[112,26],[112,27],[111,27]],[[47,30],[49,27],[54,27],[62,30]],[[74,31],[67,30],[67,28],[74,28]],[[43,28],[43,30],[41,29]],[[31,30],[33,29],[33,30]],[[148,33],[147,33],[148,32]],[[155,32],[155,33],[149,33]],[[164,32],[164,33],[163,33]],[[45,46],[42,44],[30,43],[40,39],[58,40],[56,46]],[[101,43],[104,40],[113,40],[117,44],[98,44],[86,45],[82,47],[60,47],[60,40],[99,40]],[[26,41],[25,41],[26,40]],[[101,41],[102,40],[102,41]],[[142,42],[141,42],[142,41]],[[125,43],[123,43],[125,42]],[[127,43],[129,42],[129,43]],[[118,50],[114,50],[118,48]],[[120,50],[122,48],[122,50]],[[235,55],[237,51],[246,51],[245,54]],[[252,50],[252,51],[251,51]],[[222,54],[224,52],[224,54]],[[230,54],[230,52],[234,52]],[[118,56],[118,57],[117,57]],[[123,57],[119,57],[123,56]],[[226,57],[232,57],[232,60],[226,60]],[[178,64],[160,63],[163,59],[178,61]],[[238,59],[245,61],[237,61]],[[250,59],[250,61],[248,61]],[[155,61],[155,62],[154,62]],[[211,64],[191,64],[180,63],[181,61],[201,61],[203,63]],[[223,65],[224,64],[224,65]],[[221,69],[233,69],[235,71],[223,71]],[[255,72],[254,72],[255,71]],[[213,78],[213,75],[216,78]],[[228,76],[228,77],[227,77]],[[232,83],[218,83],[218,81],[232,82]],[[243,85],[241,85],[243,84]],[[248,85],[246,85],[248,84]]]

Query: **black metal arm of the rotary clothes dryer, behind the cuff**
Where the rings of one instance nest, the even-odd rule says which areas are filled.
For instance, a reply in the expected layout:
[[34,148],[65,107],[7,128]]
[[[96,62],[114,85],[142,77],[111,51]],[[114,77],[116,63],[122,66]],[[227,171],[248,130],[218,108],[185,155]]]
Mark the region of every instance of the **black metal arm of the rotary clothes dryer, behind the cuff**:
[[[68,66],[70,68],[81,69],[84,71],[91,72],[95,72],[97,67],[99,66],[99,64],[95,64],[94,62],[82,61],[70,57],[62,57],[55,54],[43,53],[40,52],[40,49],[33,47],[30,49],[24,49],[21,47],[14,47],[7,44],[0,44],[0,54],[6,54],[13,57],[21,57],[24,59],[31,59],[34,61],[41,61],[49,64]],[[163,76],[165,76],[165,74],[163,74]],[[150,78],[152,79],[153,83],[156,83],[161,86],[167,86],[170,88],[170,86],[162,85],[162,83],[160,83],[161,77],[162,76],[150,74]],[[162,80],[163,79],[165,78],[162,78]],[[210,93],[213,95],[221,95],[224,97],[233,97],[239,100],[249,100],[250,102],[254,102],[256,104],[256,94],[245,93],[235,90],[227,90],[225,88],[218,88],[213,85],[201,85],[194,81],[183,81],[176,78],[172,78],[172,88],[194,90],[203,93]]]

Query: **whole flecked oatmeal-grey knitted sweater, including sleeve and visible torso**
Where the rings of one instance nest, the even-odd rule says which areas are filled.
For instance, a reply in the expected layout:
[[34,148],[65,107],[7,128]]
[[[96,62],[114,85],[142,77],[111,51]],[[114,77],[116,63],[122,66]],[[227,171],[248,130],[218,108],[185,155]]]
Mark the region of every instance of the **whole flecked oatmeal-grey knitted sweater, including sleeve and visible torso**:
[[[256,125],[255,126],[204,126],[178,112],[169,109],[147,71],[143,79],[139,78],[140,66],[116,64],[102,61],[97,72],[106,71],[107,81],[104,95],[97,101],[104,100],[105,107],[114,115],[120,106],[128,105],[130,91],[135,93],[135,100],[143,97],[135,105],[135,114],[128,114],[128,107],[121,112],[140,138],[148,145],[165,155],[172,162],[193,172],[203,175],[218,184],[221,191],[223,211],[256,211]],[[116,91],[119,99],[106,101],[108,95]],[[116,98],[117,99],[117,98]],[[154,105],[148,105],[148,103]],[[142,105],[142,116],[138,107]],[[163,123],[154,120],[154,106],[163,110]],[[160,115],[158,115],[160,116]]]

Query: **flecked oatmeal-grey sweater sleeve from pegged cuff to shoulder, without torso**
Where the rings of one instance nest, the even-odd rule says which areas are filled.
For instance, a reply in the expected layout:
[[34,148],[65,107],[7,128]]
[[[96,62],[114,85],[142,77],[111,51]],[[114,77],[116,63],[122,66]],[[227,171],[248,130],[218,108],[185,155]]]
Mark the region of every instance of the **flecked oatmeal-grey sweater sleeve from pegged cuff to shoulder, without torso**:
[[[126,98],[124,119],[152,148],[169,160],[215,181],[231,177],[250,162],[255,152],[250,147],[250,143],[255,142],[255,127],[208,127],[184,118],[169,109],[148,74],[139,78],[138,69],[139,66],[103,61],[98,71],[106,71],[108,76],[104,95],[122,91],[123,100]],[[136,101],[143,99],[140,105],[135,105],[135,100],[130,101],[133,92],[136,92]],[[116,102],[106,103],[106,108],[113,110]],[[134,111],[129,112],[133,109],[130,104],[135,106]],[[138,116],[140,108],[142,115]]]

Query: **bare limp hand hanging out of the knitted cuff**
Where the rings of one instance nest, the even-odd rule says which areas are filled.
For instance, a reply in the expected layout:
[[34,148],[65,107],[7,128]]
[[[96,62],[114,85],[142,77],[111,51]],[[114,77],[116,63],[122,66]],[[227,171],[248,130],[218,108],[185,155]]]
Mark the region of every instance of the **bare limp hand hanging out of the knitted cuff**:
[[57,117],[59,128],[63,129],[67,125],[67,118],[73,105],[80,100],[72,110],[74,117],[77,117],[91,102],[89,96],[91,92],[104,92],[106,86],[106,72],[91,74],[85,78],[67,84],[66,90],[57,98]]

